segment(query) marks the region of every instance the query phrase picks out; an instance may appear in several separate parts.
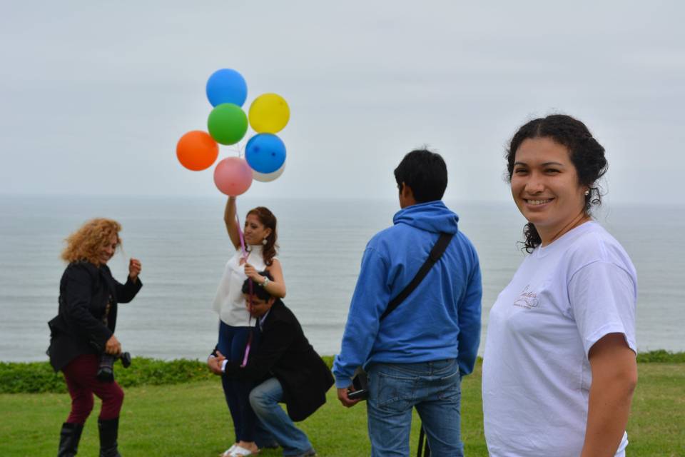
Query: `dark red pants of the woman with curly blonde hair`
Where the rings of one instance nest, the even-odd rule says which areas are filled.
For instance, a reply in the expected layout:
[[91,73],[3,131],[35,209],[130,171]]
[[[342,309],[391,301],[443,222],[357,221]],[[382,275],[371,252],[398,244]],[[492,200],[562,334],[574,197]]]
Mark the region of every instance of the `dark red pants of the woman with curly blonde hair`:
[[99,364],[100,358],[95,354],[83,354],[62,368],[71,395],[71,413],[66,419],[68,423],[86,423],[88,415],[93,411],[93,393],[102,400],[100,418],[103,421],[119,416],[123,391],[116,381],[98,381],[95,376]]

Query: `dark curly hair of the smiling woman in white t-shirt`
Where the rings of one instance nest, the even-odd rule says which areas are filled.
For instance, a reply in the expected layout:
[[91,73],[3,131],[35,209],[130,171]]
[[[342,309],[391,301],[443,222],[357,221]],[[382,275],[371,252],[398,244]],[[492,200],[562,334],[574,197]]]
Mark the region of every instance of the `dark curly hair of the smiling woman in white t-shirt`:
[[[569,150],[579,184],[587,186],[590,191],[589,195],[585,196],[586,214],[590,214],[593,205],[602,204],[602,194],[597,186],[597,180],[607,173],[609,166],[604,157],[604,147],[592,137],[585,124],[566,114],[552,114],[545,118],[533,119],[516,132],[505,155],[509,182],[512,181],[516,151],[524,140],[533,138],[549,138]],[[524,226],[523,234],[526,238],[524,249],[528,253],[542,243],[537,229],[531,222]]]

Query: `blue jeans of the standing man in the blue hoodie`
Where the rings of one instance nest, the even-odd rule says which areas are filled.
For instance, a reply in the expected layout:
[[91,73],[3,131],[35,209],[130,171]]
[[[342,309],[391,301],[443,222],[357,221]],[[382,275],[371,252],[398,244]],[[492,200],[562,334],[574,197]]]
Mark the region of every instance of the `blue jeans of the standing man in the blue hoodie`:
[[416,407],[432,457],[462,457],[461,379],[457,359],[372,363],[367,367],[367,416],[372,457],[409,456]]

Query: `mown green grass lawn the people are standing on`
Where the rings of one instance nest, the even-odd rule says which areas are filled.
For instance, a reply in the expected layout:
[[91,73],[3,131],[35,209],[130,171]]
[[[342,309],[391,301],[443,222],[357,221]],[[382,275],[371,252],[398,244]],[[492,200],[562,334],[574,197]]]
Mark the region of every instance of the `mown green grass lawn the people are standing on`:
[[[462,385],[462,434],[467,456],[487,456],[480,379],[479,363]],[[96,410],[83,431],[81,456],[97,455],[97,408],[96,401]],[[0,456],[56,455],[59,428],[68,410],[66,393],[0,394]],[[412,426],[411,451],[415,455],[418,421]],[[329,391],[328,403],[300,427],[320,456],[370,453],[365,406],[343,408],[335,389]],[[639,363],[628,433],[631,457],[685,456],[685,364]],[[230,445],[232,438],[218,378],[126,388],[119,439],[124,457],[214,457]],[[280,456],[280,451],[265,450],[260,456]]]

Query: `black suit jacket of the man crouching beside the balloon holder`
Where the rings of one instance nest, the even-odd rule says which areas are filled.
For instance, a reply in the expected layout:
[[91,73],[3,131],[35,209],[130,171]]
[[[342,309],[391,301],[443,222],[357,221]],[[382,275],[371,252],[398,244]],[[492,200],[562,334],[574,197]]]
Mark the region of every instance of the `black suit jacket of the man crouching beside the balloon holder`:
[[275,376],[283,386],[285,406],[293,421],[303,421],[326,402],[333,375],[310,345],[298,319],[276,300],[263,323],[259,346],[248,364],[229,362],[226,376],[263,381]]

